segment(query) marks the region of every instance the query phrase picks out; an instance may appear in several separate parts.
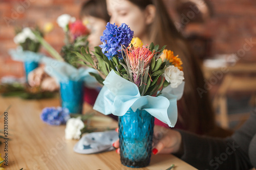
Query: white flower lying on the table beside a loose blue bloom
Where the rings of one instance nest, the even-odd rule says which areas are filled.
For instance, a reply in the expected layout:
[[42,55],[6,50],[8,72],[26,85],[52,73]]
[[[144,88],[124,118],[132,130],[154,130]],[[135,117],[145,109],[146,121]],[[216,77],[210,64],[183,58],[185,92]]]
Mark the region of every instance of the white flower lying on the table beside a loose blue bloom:
[[80,139],[82,128],[84,128],[84,124],[81,120],[81,117],[70,118],[66,125],[65,138],[66,139]]

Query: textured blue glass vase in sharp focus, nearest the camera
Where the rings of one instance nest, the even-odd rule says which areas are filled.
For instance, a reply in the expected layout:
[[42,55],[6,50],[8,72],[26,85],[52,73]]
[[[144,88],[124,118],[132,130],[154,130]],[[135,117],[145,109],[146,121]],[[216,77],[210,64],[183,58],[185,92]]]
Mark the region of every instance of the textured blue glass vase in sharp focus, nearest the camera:
[[154,117],[145,110],[129,109],[119,116],[119,145],[121,163],[129,167],[150,164]]

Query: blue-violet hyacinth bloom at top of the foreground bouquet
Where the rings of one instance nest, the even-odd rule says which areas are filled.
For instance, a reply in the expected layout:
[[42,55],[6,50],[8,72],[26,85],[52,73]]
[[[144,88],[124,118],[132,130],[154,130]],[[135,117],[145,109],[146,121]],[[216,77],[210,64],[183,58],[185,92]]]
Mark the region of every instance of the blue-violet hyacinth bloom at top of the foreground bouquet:
[[109,59],[117,54],[119,59],[122,59],[121,45],[129,46],[133,35],[133,31],[125,23],[117,27],[115,23],[108,22],[106,29],[103,31],[103,36],[100,37],[100,41],[103,42],[102,45],[99,45],[102,48],[102,53]]

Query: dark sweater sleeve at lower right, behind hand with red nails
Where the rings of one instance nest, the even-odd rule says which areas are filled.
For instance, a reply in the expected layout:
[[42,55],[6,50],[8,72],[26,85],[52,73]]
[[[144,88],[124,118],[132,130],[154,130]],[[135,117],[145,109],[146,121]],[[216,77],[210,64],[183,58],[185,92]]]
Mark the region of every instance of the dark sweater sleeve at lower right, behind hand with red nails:
[[248,147],[256,133],[256,113],[226,139],[200,137],[179,130],[183,153],[178,156],[198,169],[250,169],[252,168]]

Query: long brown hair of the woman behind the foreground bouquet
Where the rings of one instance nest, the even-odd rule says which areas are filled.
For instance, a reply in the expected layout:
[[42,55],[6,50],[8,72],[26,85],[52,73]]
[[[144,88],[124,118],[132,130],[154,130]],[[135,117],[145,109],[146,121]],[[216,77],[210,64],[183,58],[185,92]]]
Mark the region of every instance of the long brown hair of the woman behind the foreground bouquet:
[[183,61],[185,89],[182,99],[178,102],[181,115],[178,115],[182,126],[191,132],[206,134],[215,128],[215,115],[209,100],[208,93],[200,97],[197,88],[204,89],[204,77],[197,61],[183,36],[176,29],[174,22],[162,0],[129,0],[144,10],[147,5],[156,7],[156,17],[149,26],[150,42],[167,45],[168,50],[174,51]]

